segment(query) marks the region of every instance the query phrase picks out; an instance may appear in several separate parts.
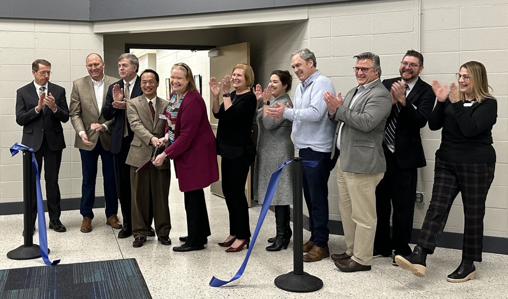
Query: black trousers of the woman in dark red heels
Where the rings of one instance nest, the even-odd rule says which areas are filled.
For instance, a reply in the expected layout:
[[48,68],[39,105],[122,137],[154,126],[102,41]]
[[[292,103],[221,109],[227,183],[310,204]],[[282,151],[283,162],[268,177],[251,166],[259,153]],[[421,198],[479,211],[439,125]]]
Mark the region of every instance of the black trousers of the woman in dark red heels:
[[245,182],[255,156],[246,150],[233,159],[222,158],[220,170],[222,189],[229,212],[229,234],[237,239],[250,238],[249,212],[245,197]]

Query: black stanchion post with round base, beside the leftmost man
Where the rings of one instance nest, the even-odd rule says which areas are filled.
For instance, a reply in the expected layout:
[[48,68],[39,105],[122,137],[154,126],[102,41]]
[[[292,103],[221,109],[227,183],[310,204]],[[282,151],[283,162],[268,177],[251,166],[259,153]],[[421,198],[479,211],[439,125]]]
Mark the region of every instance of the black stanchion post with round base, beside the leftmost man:
[[[23,150],[23,203],[24,203],[24,214],[23,214],[23,245],[16,249],[13,249],[7,253],[7,257],[10,259],[34,259],[41,257],[41,251],[39,245],[34,244],[34,236],[32,235],[32,229],[34,229],[32,219],[32,190],[35,186],[32,184],[32,176],[34,167],[31,163],[32,154],[28,150]],[[48,249],[49,252],[49,249]]]

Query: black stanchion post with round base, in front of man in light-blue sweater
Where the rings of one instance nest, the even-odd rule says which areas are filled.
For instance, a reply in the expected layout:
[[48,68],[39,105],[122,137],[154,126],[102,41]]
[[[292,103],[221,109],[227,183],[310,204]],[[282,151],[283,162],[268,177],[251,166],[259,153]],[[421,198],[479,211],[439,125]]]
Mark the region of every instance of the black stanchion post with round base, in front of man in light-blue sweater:
[[275,278],[275,285],[290,292],[313,292],[323,287],[323,281],[303,271],[303,164],[293,159],[293,271]]

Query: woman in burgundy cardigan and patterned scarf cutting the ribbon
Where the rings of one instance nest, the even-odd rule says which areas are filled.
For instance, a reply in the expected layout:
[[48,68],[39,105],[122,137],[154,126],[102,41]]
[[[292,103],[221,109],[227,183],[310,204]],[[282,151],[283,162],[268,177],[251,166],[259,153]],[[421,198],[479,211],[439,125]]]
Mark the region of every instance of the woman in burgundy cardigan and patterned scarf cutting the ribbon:
[[196,89],[188,65],[173,65],[170,84],[173,92],[165,114],[167,133],[160,140],[168,147],[153,163],[157,165],[167,158],[173,159],[178,186],[184,194],[188,236],[181,237],[180,240],[185,243],[173,247],[173,250],[201,250],[210,236],[203,188],[219,178],[215,136],[208,121],[204,99]]

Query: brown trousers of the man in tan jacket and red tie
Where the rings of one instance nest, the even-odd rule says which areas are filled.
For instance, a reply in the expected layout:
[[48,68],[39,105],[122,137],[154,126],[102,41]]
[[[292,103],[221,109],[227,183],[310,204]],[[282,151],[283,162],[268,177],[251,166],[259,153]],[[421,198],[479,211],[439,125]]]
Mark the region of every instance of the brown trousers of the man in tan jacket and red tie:
[[157,237],[168,237],[171,230],[169,215],[169,183],[171,169],[157,169],[154,165],[136,173],[131,166],[132,234],[134,238],[148,235],[150,197],[153,201],[153,222]]

